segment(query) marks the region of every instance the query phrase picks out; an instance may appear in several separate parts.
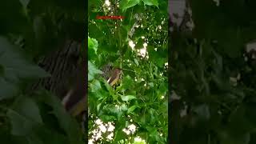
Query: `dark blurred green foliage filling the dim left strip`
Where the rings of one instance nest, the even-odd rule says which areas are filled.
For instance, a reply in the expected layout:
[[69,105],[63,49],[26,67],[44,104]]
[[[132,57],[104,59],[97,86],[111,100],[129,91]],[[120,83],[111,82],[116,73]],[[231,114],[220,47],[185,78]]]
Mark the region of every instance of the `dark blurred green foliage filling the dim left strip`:
[[83,143],[78,122],[48,90],[27,89],[50,77],[36,63],[66,39],[84,40],[84,1],[4,1],[0,5],[2,143]]

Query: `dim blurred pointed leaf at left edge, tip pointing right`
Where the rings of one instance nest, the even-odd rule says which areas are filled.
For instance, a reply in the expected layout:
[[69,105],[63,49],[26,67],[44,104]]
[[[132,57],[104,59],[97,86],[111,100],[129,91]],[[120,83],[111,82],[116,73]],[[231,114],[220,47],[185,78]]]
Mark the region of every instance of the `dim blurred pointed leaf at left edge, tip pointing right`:
[[24,79],[46,78],[45,70],[28,61],[25,54],[6,38],[0,37],[0,100],[11,98],[18,92],[18,84]]

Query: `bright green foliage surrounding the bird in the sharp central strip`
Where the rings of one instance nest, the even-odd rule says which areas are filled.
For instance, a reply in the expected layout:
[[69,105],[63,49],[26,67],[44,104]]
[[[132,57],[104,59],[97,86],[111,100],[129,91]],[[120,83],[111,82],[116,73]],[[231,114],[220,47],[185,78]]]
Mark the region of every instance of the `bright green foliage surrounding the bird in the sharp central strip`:
[[[149,143],[166,143],[167,1],[109,1],[110,6],[104,2],[89,5],[89,137],[100,118],[104,123],[114,122],[112,143],[134,142],[137,136]],[[96,19],[104,15],[124,18]],[[143,47],[145,55],[139,53]],[[98,77],[108,63],[123,71],[115,88]],[[131,124],[138,128],[127,135],[122,130]],[[106,141],[105,137],[97,142]]]

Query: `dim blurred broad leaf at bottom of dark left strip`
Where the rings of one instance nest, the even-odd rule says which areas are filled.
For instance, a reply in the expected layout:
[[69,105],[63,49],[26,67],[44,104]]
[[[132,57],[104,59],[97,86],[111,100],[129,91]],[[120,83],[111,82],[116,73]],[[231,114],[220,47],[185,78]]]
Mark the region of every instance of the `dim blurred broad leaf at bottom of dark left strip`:
[[37,103],[28,97],[19,97],[6,115],[10,119],[11,134],[26,138],[29,144],[67,144],[64,135],[42,122]]

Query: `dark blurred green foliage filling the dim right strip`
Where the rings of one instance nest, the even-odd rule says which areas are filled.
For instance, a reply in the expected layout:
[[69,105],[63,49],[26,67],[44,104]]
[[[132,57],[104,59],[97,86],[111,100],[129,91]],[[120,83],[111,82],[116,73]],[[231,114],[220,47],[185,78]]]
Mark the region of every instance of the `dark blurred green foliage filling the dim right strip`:
[[192,33],[171,32],[173,143],[255,143],[255,64],[244,57],[256,38],[254,4],[190,1]]

